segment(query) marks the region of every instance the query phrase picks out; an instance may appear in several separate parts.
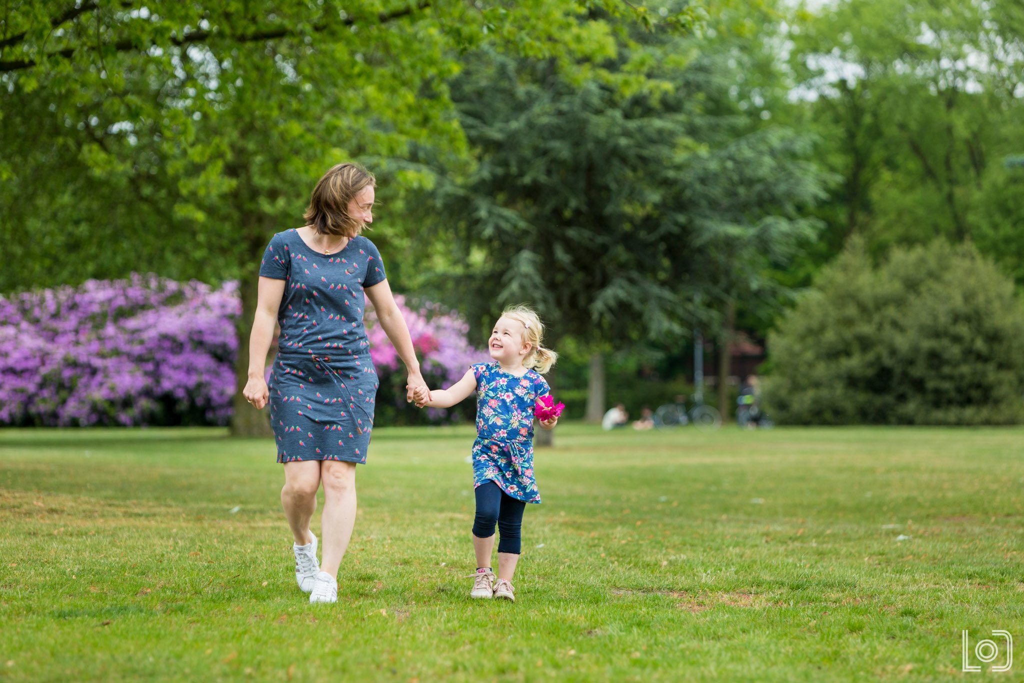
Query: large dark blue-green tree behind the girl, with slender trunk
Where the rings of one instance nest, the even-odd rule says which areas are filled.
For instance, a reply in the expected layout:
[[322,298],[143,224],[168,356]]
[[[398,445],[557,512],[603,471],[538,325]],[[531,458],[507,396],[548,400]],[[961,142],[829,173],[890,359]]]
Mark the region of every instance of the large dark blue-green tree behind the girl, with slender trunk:
[[478,165],[435,195],[460,264],[445,278],[470,319],[531,301],[556,340],[588,346],[591,419],[604,352],[756,307],[746,295],[771,289],[767,268],[811,227],[806,142],[748,125],[723,77],[739,65],[694,59],[698,44],[620,37],[582,82],[481,52],[453,83]]

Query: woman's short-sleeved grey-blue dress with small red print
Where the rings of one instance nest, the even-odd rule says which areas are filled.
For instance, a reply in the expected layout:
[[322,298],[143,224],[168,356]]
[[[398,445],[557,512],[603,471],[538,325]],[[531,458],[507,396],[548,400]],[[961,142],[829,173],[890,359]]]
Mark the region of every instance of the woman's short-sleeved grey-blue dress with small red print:
[[271,238],[259,274],[285,281],[269,381],[278,462],[366,463],[379,383],[364,290],[386,278],[380,252],[359,236],[325,255],[290,229]]

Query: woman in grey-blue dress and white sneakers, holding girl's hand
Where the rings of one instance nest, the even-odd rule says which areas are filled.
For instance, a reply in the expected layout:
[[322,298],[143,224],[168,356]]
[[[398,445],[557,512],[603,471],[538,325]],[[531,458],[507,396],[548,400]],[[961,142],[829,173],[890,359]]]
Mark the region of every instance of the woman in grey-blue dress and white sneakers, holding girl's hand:
[[[281,503],[295,537],[295,579],[310,602],[338,599],[338,565],[355,523],[355,464],[367,462],[377,373],[362,325],[366,297],[409,372],[407,400],[426,387],[413,340],[374,244],[359,232],[373,222],[376,180],[355,164],[321,178],[306,210],[309,223],[279,232],[263,254],[259,300],[243,393],[270,403],[278,462],[285,466]],[[265,381],[274,323],[278,356]],[[323,564],[309,521],[324,484]]]

